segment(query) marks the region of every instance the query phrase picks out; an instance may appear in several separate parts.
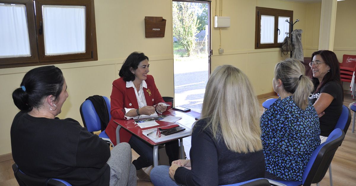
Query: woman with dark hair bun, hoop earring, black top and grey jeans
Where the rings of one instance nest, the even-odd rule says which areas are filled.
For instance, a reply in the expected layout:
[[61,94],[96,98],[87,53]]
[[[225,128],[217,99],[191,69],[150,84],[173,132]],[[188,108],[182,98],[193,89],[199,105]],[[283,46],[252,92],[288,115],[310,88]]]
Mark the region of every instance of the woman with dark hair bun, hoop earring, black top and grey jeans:
[[17,113],[11,125],[12,157],[26,175],[57,178],[72,185],[137,185],[131,148],[108,144],[71,118],[59,119],[68,97],[62,71],[28,71],[12,93]]

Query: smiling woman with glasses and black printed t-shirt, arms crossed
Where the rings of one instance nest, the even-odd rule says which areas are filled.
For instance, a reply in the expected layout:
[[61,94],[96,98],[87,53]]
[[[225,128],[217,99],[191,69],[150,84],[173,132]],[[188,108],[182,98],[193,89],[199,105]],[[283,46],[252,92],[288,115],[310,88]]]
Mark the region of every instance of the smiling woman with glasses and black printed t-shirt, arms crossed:
[[344,94],[340,81],[339,61],[334,52],[317,51],[309,63],[313,71],[314,91],[309,96],[320,121],[321,143],[325,142],[335,128],[342,111]]

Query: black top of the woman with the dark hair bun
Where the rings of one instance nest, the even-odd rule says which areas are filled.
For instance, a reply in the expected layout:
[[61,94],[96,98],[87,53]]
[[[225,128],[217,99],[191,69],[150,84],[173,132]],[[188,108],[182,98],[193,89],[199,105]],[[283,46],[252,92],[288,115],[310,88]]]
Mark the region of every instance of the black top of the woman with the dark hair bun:
[[33,177],[74,185],[109,185],[107,143],[74,119],[37,118],[19,112],[11,125],[12,157]]

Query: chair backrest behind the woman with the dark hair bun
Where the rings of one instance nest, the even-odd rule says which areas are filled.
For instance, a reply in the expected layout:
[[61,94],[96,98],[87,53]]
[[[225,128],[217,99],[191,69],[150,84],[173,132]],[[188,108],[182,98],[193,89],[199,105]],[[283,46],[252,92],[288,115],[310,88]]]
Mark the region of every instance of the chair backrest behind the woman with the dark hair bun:
[[26,175],[17,167],[16,163],[12,165],[12,170],[14,171],[15,178],[20,186],[72,186],[67,181],[60,179],[38,178]]

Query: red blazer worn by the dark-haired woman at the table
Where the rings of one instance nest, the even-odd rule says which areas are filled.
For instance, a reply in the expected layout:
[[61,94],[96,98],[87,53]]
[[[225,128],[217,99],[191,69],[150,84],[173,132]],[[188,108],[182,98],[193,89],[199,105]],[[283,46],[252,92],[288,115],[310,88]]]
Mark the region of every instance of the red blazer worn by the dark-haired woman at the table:
[[[153,106],[157,103],[164,102],[161,94],[156,87],[155,80],[152,75],[147,75],[145,80],[147,89],[143,87],[147,106]],[[151,94],[150,94],[151,93]],[[125,108],[138,108],[135,90],[133,87],[126,88],[126,81],[121,77],[112,82],[111,100],[111,119],[106,127],[106,134],[108,134],[111,142],[116,145],[116,128],[117,124],[114,119],[126,119]],[[168,110],[168,108],[167,108]],[[131,133],[125,129],[120,129],[120,142],[129,142]]]

